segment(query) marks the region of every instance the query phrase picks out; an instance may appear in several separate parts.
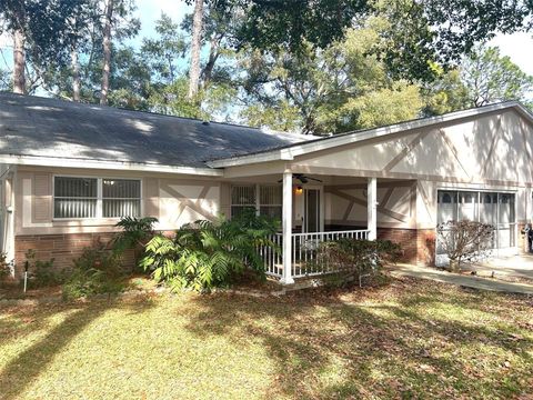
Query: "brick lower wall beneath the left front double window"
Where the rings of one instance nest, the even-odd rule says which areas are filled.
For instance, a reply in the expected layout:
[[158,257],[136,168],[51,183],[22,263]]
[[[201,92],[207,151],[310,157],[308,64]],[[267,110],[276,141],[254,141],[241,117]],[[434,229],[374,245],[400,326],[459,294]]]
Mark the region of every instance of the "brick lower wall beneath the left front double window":
[[[72,267],[72,260],[80,257],[83,249],[108,243],[113,233],[66,233],[66,234],[34,234],[17,236],[14,239],[16,276],[20,277],[24,270],[26,252],[36,251],[38,260],[54,259],[57,270]],[[133,251],[127,251],[123,259],[124,267],[134,266]]]

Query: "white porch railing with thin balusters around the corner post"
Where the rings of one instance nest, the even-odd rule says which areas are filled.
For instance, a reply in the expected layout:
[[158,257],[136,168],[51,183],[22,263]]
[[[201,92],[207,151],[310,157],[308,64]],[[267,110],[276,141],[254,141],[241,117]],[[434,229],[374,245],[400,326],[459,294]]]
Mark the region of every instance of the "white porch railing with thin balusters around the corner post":
[[[331,232],[310,232],[292,233],[292,277],[312,277],[329,272],[335,272],[331,266],[316,260],[316,250],[319,244],[324,241],[335,241],[340,239],[369,239],[369,230],[345,230]],[[281,278],[283,274],[283,234],[276,233],[272,241],[278,249],[271,247],[261,247],[259,249],[264,260],[266,274]]]

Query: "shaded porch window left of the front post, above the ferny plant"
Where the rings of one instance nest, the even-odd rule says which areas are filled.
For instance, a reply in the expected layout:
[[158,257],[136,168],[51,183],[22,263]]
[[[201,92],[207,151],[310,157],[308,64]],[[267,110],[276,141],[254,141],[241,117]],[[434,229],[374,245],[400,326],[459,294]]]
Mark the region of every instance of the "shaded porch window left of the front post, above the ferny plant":
[[243,209],[249,208],[261,216],[270,216],[281,220],[281,190],[279,184],[233,186],[231,188],[231,216],[239,216]]

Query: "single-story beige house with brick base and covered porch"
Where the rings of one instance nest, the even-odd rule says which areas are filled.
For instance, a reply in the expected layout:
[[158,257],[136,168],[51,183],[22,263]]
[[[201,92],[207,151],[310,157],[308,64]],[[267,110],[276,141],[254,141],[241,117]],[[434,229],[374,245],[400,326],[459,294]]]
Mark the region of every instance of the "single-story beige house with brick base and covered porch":
[[316,138],[0,93],[1,246],[71,263],[122,216],[169,231],[254,208],[282,219],[266,270],[290,283],[321,240],[385,238],[406,261],[439,262],[435,227],[496,227],[496,253],[523,248],[532,216],[533,117],[504,102]]

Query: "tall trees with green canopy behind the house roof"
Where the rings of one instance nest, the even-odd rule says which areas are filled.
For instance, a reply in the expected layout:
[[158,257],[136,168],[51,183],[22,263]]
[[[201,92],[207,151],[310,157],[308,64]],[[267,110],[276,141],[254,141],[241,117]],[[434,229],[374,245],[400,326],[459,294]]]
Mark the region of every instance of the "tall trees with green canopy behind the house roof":
[[0,88],[311,134],[531,96],[483,47],[532,28],[525,0],[185,2],[139,38],[134,0],[0,0],[16,60]]

